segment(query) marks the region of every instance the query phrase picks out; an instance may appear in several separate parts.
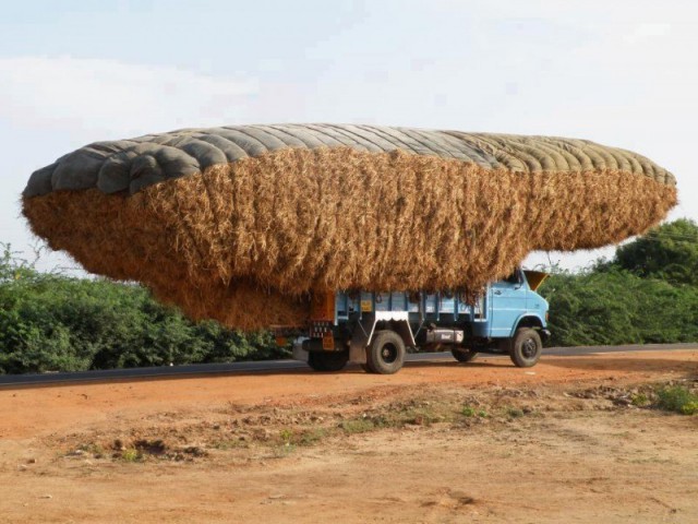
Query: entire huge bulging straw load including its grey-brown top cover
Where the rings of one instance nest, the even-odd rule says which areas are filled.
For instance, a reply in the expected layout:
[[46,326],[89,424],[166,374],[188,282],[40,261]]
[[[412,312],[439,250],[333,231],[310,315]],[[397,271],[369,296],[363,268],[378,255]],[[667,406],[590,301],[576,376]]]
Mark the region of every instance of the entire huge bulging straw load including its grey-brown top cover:
[[35,171],[23,202],[87,271],[255,329],[303,322],[314,290],[472,293],[532,250],[645,231],[676,189],[582,140],[282,124],[89,144]]

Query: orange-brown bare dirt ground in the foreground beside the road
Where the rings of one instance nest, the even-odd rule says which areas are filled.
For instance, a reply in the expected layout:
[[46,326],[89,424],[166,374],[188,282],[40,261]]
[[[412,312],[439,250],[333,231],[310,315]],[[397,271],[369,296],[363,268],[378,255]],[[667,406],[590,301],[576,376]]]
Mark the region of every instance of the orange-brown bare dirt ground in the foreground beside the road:
[[697,522],[698,350],[0,389],[0,522]]

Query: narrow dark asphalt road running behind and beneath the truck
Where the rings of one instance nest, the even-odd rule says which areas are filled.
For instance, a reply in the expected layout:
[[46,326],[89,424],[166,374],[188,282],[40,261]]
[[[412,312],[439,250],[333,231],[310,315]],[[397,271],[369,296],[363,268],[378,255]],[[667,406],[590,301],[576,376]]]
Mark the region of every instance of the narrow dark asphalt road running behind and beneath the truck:
[[[545,355],[562,357],[578,357],[602,353],[625,352],[662,352],[675,349],[698,349],[698,344],[647,344],[627,346],[578,346],[578,347],[547,347],[543,349]],[[507,358],[504,355],[481,355],[480,358]],[[422,353],[407,356],[409,362],[421,360],[453,360],[450,353]],[[148,379],[172,378],[202,374],[229,374],[229,373],[265,373],[294,369],[309,369],[305,362],[297,360],[263,360],[254,362],[232,364],[194,364],[188,366],[161,366],[152,368],[105,369],[96,371],[79,371],[70,373],[40,373],[40,374],[5,374],[0,376],[0,388],[12,385],[53,384],[70,382],[94,382],[121,379]]]

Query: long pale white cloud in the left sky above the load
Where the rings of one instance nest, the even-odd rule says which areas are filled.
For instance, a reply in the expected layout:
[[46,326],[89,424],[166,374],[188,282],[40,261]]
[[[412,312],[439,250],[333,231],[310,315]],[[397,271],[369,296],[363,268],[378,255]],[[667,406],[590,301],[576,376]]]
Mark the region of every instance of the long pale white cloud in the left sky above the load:
[[[72,57],[0,59],[0,119],[108,136],[244,121],[254,79]],[[91,133],[92,134],[92,133]]]

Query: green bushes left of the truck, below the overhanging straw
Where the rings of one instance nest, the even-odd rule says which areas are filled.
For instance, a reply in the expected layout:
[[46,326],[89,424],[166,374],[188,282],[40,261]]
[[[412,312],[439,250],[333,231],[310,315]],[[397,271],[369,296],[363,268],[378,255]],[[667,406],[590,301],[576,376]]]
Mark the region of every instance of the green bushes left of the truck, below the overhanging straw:
[[141,286],[43,274],[9,247],[0,259],[0,373],[287,356],[268,332],[192,322]]

